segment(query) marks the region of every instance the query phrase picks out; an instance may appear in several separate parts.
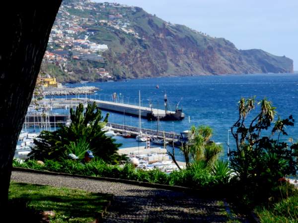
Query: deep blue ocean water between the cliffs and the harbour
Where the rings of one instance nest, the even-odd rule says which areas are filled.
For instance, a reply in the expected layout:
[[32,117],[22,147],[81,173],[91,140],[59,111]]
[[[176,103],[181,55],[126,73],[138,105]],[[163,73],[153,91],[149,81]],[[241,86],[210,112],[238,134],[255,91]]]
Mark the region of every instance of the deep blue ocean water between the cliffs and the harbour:
[[[189,76],[189,77],[163,77],[149,79],[135,79],[121,82],[97,82],[86,84],[67,84],[69,87],[96,86],[101,90],[95,95],[87,96],[100,100],[110,101],[112,94],[118,95],[118,100],[128,104],[139,103],[139,90],[141,91],[141,104],[149,107],[149,100],[153,107],[163,109],[163,96],[166,92],[170,110],[181,100],[179,107],[183,107],[186,118],[182,121],[160,121],[159,128],[164,131],[181,132],[189,126],[209,125],[214,130],[213,140],[222,143],[223,156],[226,154],[228,129],[237,120],[237,102],[241,97],[256,96],[256,100],[267,98],[277,107],[278,115],[282,118],[290,114],[298,118],[298,74],[247,74],[247,75],[220,75],[220,76]],[[159,86],[159,89],[156,88]],[[81,96],[85,97],[85,96]],[[103,111],[105,114],[106,112]],[[109,121],[124,123],[123,114],[109,112]],[[190,123],[188,122],[190,117]],[[253,116],[253,115],[252,115]],[[276,117],[277,118],[277,117]],[[126,124],[138,126],[138,117],[126,116]],[[156,121],[142,119],[142,127],[156,128]],[[288,127],[289,136],[298,140],[298,123]],[[133,139],[117,137],[123,147],[138,146]],[[229,133],[231,149],[234,140]]]

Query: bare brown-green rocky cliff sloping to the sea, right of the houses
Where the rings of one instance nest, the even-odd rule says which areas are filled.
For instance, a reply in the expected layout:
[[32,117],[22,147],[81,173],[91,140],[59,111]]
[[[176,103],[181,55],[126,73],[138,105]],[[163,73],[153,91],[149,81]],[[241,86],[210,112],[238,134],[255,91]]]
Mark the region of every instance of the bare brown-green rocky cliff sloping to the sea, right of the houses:
[[285,56],[262,50],[240,51],[224,38],[167,24],[141,8],[133,21],[143,39],[116,34],[122,51],[111,48],[105,53],[111,69],[121,77],[293,72],[293,60]]

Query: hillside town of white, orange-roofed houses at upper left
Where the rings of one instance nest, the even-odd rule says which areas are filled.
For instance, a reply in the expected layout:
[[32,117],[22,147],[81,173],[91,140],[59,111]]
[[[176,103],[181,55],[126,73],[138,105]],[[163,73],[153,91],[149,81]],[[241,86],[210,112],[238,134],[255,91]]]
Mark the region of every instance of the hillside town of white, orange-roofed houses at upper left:
[[136,10],[135,7],[124,4],[95,3],[89,0],[62,4],[50,34],[43,64],[54,64],[61,72],[71,75],[76,72],[75,62],[86,61],[96,64],[88,66],[88,70],[96,74],[97,79],[113,79],[113,73],[106,70],[107,61],[103,56],[109,46],[98,43],[100,41],[91,41],[90,37],[95,35],[92,28],[102,26],[141,39],[125,18],[126,14],[121,14],[123,9],[124,12]]

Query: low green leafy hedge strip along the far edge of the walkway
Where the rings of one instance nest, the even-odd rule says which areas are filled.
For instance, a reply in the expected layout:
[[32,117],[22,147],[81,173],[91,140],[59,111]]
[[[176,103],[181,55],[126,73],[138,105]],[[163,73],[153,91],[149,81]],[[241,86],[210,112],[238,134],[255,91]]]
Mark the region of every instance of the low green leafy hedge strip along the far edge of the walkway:
[[[221,174],[220,171],[214,172],[212,167],[207,165],[206,161],[196,162],[186,169],[173,171],[170,174],[161,172],[159,169],[137,169],[131,164],[126,164],[123,167],[110,165],[100,159],[94,159],[85,165],[74,160],[45,160],[44,165],[38,164],[35,160],[28,160],[23,164],[14,162],[14,166],[79,175],[112,177],[150,183],[178,185],[196,189],[219,186],[228,181],[224,180],[226,177],[224,171],[222,171]],[[219,169],[219,167],[217,167],[217,169]]]

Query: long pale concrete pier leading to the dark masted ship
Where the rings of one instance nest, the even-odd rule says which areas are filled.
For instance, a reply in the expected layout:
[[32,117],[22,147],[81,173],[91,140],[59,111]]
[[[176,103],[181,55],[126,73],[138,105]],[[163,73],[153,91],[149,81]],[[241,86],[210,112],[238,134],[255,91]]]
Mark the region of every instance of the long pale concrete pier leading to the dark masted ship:
[[[45,99],[47,104],[53,108],[70,108],[75,107],[79,103],[93,103],[95,102],[97,107],[104,111],[114,111],[118,113],[126,113],[128,115],[139,116],[141,111],[141,117],[149,119],[149,117],[158,117],[159,120],[165,119],[165,117],[173,117],[176,115],[176,111],[166,111],[161,109],[153,109],[149,107],[139,107],[136,105],[129,105],[116,102],[101,101],[95,99],[83,99],[83,98],[71,98],[71,99]],[[180,118],[184,118],[184,113],[182,112]],[[168,119],[168,120],[181,120],[181,119]]]

